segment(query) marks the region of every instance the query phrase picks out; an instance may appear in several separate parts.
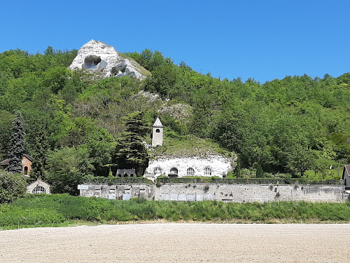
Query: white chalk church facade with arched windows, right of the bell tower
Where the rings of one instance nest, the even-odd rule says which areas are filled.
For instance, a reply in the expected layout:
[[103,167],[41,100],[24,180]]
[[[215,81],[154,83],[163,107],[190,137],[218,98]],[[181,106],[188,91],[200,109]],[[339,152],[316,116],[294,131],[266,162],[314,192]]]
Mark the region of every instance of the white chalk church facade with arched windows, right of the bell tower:
[[[178,177],[193,175],[193,176],[218,176],[223,177],[232,170],[232,165],[229,158],[221,155],[210,155],[207,158],[198,156],[194,157],[158,157],[150,161],[146,169],[145,176],[150,179],[156,179],[160,175],[169,175],[173,173],[172,168],[177,169]],[[193,174],[188,174],[193,169]],[[172,170],[172,172],[171,172]]]

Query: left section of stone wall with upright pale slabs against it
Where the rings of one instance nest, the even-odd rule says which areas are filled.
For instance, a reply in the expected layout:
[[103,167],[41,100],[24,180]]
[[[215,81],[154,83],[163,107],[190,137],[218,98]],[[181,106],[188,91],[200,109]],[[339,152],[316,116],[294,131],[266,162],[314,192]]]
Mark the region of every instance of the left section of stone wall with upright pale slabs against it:
[[153,186],[149,184],[79,184],[80,196],[129,200],[153,198]]

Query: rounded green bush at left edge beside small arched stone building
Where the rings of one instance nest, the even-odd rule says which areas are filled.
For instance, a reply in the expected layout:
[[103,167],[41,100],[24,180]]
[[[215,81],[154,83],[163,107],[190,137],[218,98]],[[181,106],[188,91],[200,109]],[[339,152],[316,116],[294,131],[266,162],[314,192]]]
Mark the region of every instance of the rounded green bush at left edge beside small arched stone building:
[[27,182],[22,174],[0,171],[0,203],[7,203],[23,196],[26,184]]

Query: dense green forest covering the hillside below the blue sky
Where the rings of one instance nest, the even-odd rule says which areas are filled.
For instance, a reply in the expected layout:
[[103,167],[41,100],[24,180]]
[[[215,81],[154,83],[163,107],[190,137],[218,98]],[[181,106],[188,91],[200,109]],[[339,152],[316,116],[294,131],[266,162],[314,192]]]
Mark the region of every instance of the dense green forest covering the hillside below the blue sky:
[[[12,121],[21,112],[25,153],[40,164],[36,176],[76,183],[85,175],[108,176],[125,133],[123,118],[142,112],[149,126],[160,116],[165,136],[177,142],[205,138],[235,152],[241,168],[337,177],[328,174],[330,166],[350,162],[349,73],[263,84],[216,79],[146,49],[125,55],[152,76],[99,79],[67,69],[76,53],[49,46],[43,54],[0,54],[0,159],[8,156]],[[59,191],[71,191],[66,187]]]

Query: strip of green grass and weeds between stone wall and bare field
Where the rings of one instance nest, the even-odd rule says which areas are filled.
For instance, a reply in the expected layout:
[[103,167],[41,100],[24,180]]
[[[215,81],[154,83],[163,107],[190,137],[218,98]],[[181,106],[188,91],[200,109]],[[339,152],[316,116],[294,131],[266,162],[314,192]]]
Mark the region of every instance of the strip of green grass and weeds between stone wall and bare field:
[[0,205],[0,229],[167,220],[171,222],[350,222],[346,203],[223,203],[30,195]]

